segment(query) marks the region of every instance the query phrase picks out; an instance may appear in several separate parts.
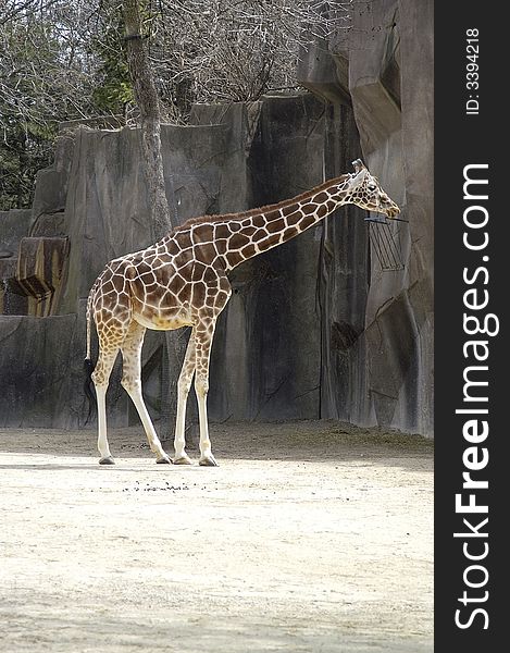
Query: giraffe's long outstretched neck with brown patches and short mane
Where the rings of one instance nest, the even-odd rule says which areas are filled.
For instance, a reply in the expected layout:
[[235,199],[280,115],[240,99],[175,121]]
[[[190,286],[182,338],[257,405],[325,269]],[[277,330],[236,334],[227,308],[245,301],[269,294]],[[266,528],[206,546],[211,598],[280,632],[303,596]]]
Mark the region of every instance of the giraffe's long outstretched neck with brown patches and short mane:
[[294,199],[233,218],[224,252],[227,269],[295,238],[346,204],[347,178],[338,177]]

